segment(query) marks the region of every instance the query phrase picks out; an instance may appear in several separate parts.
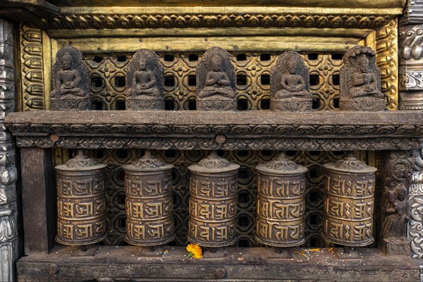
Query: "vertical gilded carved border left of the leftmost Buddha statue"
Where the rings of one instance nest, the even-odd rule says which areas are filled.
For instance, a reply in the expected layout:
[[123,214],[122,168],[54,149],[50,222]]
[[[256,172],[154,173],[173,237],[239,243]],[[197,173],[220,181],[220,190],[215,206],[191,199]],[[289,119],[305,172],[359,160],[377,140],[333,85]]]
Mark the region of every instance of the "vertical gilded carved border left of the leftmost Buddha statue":
[[20,25],[20,75],[22,111],[44,109],[42,31]]

